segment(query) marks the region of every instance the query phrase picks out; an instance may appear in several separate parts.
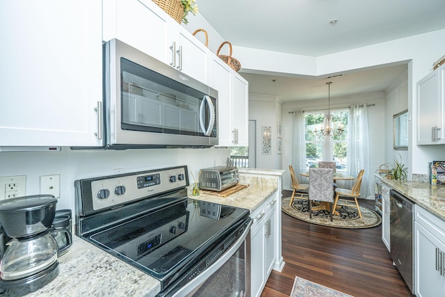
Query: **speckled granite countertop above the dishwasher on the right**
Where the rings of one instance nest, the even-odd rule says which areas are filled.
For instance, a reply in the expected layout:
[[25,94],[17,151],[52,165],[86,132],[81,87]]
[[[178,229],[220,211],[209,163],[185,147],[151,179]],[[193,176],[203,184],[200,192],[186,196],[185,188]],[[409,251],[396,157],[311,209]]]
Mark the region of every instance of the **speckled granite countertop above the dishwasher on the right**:
[[431,214],[445,220],[445,185],[432,185],[429,182],[400,182],[385,177],[382,178],[382,182],[423,209],[430,211]]

